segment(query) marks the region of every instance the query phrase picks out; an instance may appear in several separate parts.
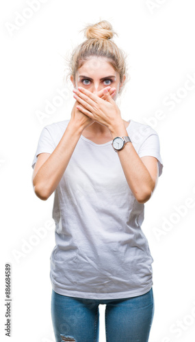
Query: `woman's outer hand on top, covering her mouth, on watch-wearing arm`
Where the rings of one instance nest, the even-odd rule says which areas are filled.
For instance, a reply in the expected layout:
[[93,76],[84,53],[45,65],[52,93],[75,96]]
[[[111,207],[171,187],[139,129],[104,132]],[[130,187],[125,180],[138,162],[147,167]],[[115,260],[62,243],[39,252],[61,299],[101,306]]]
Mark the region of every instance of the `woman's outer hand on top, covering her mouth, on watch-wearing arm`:
[[113,123],[122,122],[122,118],[120,109],[109,92],[106,92],[107,88],[103,90],[105,100],[82,87],[79,87],[78,90],[74,89],[73,92],[75,92],[75,99],[83,106],[77,106],[77,109],[109,128]]

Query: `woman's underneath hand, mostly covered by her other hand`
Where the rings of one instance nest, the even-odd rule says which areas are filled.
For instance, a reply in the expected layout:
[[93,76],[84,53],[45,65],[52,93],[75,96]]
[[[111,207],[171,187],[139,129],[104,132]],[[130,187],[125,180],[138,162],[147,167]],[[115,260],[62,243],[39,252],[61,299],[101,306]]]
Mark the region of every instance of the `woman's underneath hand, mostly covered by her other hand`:
[[[107,87],[109,90],[109,94],[111,96],[114,96],[116,88],[110,88]],[[109,89],[110,88],[110,89]],[[103,99],[104,98],[104,94],[103,94],[103,90],[105,88],[103,88],[102,90],[100,90],[97,95]],[[79,109],[77,109],[77,106],[80,106],[83,108],[83,106],[81,105],[81,103],[79,103],[77,100],[75,101],[75,104],[73,106],[73,109],[71,111],[71,119],[75,121],[77,124],[79,124],[79,127],[83,127],[83,129],[85,129],[86,127],[90,126],[90,124],[93,124],[95,120],[92,120],[91,118],[89,118],[86,114],[83,114],[81,111],[79,111]]]

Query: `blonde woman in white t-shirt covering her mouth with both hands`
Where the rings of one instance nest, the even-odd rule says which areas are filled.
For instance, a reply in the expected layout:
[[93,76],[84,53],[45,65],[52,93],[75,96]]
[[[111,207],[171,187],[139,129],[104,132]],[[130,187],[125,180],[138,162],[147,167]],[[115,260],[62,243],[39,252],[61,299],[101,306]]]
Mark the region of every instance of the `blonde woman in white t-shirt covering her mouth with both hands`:
[[146,342],[153,321],[153,258],[142,232],[144,203],[162,172],[159,137],[123,120],[116,98],[127,81],[125,53],[107,21],[89,25],[70,59],[70,120],[40,134],[32,167],[36,195],[55,191],[51,253],[55,339]]

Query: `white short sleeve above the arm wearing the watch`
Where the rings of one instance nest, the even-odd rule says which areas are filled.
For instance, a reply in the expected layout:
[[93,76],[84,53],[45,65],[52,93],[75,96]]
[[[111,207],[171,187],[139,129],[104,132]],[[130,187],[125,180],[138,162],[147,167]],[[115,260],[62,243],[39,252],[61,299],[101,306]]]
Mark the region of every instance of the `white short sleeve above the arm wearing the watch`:
[[146,137],[146,140],[144,140],[144,142],[142,142],[142,145],[140,146],[138,155],[140,158],[144,156],[157,158],[159,166],[159,176],[161,176],[164,165],[160,155],[159,136],[157,135],[157,133],[151,133],[151,135]]

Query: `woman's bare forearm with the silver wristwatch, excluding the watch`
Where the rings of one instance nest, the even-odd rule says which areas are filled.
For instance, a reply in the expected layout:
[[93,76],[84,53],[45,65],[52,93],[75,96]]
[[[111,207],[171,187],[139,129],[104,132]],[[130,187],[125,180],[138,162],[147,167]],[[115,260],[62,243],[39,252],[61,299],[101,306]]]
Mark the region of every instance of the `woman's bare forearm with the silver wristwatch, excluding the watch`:
[[[118,124],[112,124],[112,127],[109,127],[109,131],[112,133],[113,139],[117,136],[128,135],[123,121],[119,121]],[[155,187],[151,174],[131,142],[127,142],[125,147],[117,153],[131,192],[133,192],[138,202],[146,202],[151,197]]]

